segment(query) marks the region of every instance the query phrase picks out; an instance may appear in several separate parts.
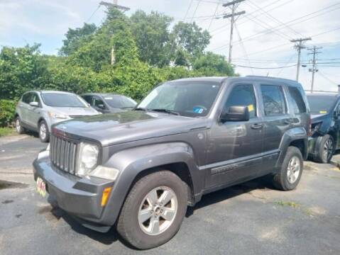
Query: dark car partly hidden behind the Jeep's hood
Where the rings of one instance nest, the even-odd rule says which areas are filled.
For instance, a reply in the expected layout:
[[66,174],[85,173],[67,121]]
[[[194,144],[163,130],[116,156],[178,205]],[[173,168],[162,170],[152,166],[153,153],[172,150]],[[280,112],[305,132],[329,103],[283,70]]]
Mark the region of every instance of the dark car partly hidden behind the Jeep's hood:
[[131,110],[137,105],[132,98],[117,94],[84,94],[82,98],[101,113],[119,113]]

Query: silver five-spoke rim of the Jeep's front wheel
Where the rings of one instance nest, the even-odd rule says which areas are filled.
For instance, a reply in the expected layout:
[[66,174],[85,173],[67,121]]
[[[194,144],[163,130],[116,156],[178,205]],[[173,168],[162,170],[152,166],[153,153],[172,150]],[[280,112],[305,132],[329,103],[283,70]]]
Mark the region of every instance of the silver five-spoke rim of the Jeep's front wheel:
[[175,220],[177,203],[177,196],[171,188],[154,188],[146,195],[139,208],[139,227],[150,235],[165,232]]

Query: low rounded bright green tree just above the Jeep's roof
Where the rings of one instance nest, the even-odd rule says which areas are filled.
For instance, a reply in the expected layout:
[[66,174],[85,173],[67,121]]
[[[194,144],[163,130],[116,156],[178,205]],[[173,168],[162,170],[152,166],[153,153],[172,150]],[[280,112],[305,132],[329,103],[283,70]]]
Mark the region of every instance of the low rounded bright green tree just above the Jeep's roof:
[[222,75],[234,76],[234,68],[226,61],[222,55],[207,52],[194,61],[193,69],[198,70],[206,76]]

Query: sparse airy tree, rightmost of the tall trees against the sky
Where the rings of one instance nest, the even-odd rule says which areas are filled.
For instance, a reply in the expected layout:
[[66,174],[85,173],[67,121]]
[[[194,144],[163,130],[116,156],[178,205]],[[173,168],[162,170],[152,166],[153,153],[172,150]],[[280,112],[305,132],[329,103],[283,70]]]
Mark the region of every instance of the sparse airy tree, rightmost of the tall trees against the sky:
[[194,56],[204,52],[210,42],[211,36],[207,30],[202,30],[196,23],[177,23],[172,29],[172,41],[177,48],[180,47]]

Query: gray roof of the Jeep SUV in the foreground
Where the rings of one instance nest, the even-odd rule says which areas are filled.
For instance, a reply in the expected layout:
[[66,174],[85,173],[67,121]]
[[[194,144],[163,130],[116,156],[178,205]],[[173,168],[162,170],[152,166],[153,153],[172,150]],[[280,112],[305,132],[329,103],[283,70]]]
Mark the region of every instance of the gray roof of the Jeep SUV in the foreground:
[[283,79],[283,78],[276,78],[276,77],[261,77],[261,76],[255,76],[255,75],[249,75],[246,77],[197,77],[197,78],[186,78],[186,79],[177,79],[174,81],[168,81],[168,82],[177,82],[177,81],[210,81],[210,82],[216,82],[221,83],[225,81],[226,79],[233,79],[233,80],[240,80],[240,81],[283,81],[286,84],[292,84],[292,85],[298,85],[297,81],[291,80],[291,79]]

